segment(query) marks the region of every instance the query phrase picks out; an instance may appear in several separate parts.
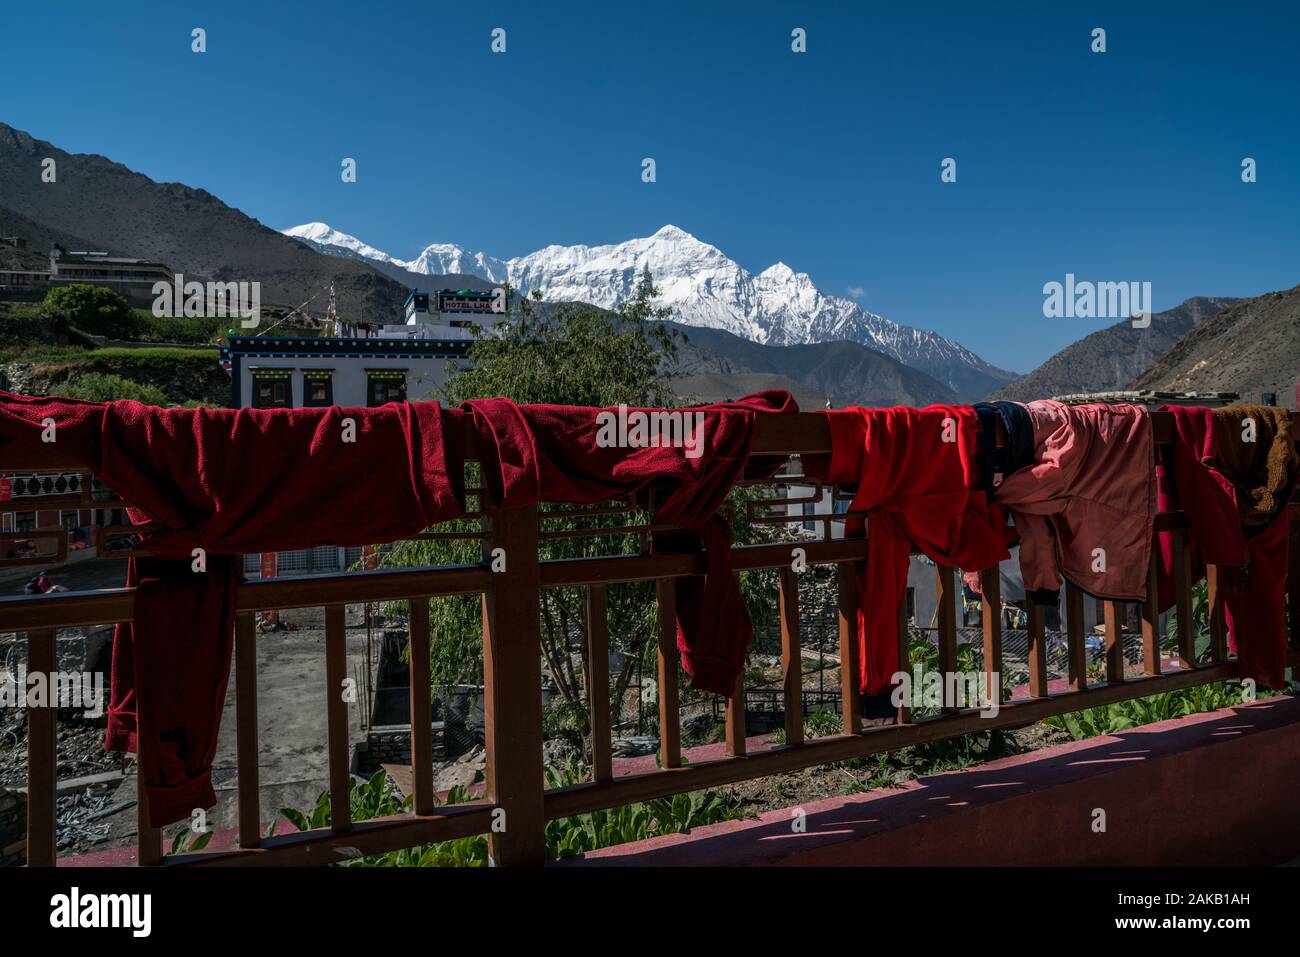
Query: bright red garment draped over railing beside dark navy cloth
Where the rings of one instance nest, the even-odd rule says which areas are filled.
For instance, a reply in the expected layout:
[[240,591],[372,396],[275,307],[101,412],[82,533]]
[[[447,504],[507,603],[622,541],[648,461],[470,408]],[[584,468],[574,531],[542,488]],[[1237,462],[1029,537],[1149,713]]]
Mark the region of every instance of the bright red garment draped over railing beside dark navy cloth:
[[803,456],[809,476],[857,492],[845,536],[867,538],[858,571],[862,690],[898,668],[898,615],[911,546],[942,566],[982,570],[1010,558],[1002,512],[976,486],[979,417],[968,406],[848,408],[824,413],[831,455]]

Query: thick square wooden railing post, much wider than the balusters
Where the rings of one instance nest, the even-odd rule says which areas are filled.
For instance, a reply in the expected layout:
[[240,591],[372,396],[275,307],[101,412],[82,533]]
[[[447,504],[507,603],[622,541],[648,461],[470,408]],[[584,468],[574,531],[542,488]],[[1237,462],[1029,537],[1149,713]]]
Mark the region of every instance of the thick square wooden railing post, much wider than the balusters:
[[542,770],[541,567],[537,508],[484,507],[484,716],[488,800],[497,805],[488,836],[491,862],[546,862]]

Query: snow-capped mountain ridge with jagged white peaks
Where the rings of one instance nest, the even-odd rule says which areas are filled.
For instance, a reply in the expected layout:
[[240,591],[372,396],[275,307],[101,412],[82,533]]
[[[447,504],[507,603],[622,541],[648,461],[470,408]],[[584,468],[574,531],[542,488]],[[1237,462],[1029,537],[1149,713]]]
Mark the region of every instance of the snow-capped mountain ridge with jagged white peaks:
[[716,246],[671,225],[654,235],[610,246],[547,246],[510,260],[437,243],[416,259],[402,261],[321,222],[283,231],[324,252],[337,248],[338,255],[359,254],[426,276],[463,273],[489,282],[508,281],[521,295],[536,289],[550,302],[585,302],[603,308],[624,302],[641,270],[649,268],[662,290],[659,302],[673,307],[675,319],[686,325],[722,329],[774,346],[849,339],[920,369],[967,397],[983,397],[1015,378],[952,339],[892,322],[850,299],[827,295],[807,273],[784,263],[750,273]]

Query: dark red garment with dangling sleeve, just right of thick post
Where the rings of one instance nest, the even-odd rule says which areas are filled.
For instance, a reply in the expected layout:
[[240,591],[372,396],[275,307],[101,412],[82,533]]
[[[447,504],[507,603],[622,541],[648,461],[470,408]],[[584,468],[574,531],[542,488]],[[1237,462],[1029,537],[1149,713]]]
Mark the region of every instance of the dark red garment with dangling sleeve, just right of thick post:
[[[754,632],[732,575],[731,528],[718,507],[742,475],[772,475],[784,462],[783,456],[746,468],[755,419],[797,412],[790,394],[764,391],[684,410],[625,410],[625,415],[701,413],[697,456],[675,443],[602,445],[597,416],[618,417],[619,410],[517,406],[510,399],[476,399],[463,408],[473,415],[484,481],[498,506],[590,505],[650,492],[655,523],[685,527],[654,542],[659,553],[705,551],[702,579],[676,579],[681,663],[696,688],[732,694]],[[495,463],[482,455],[489,446],[497,450]]]

